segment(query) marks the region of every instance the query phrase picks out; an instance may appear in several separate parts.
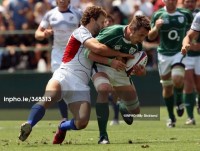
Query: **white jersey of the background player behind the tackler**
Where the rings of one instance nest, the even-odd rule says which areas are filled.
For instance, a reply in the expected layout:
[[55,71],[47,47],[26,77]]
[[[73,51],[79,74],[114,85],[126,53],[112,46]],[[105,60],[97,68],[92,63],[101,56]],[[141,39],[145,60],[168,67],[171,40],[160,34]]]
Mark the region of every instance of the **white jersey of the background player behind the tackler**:
[[60,12],[58,7],[50,10],[43,17],[40,26],[53,29],[53,48],[65,47],[72,32],[78,28],[81,12],[74,7],[69,6],[66,12]]

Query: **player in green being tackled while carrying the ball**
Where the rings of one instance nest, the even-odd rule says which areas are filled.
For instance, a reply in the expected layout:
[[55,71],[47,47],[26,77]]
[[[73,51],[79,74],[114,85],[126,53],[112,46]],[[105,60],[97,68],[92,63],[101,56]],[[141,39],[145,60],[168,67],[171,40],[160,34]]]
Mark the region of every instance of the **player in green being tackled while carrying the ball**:
[[[145,16],[135,16],[128,25],[113,25],[101,30],[96,37],[100,43],[123,53],[134,54],[142,50],[142,42],[150,30],[150,20]],[[115,60],[114,58],[111,58]],[[123,58],[117,58],[122,59]],[[111,60],[111,61],[112,61]],[[96,114],[100,131],[99,144],[109,144],[107,122],[109,117],[108,96],[117,95],[119,110],[124,121],[131,125],[133,114],[140,112],[139,100],[134,84],[125,70],[113,70],[107,65],[95,63],[92,80],[98,92]],[[133,74],[145,75],[144,66],[135,65]]]

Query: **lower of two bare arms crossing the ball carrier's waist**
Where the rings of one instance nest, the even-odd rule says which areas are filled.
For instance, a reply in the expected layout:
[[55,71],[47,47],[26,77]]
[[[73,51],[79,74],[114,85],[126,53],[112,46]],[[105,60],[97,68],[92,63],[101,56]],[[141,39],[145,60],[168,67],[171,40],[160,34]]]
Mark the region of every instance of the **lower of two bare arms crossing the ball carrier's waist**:
[[85,49],[84,55],[86,58],[89,58],[92,61],[102,63],[108,65],[116,70],[124,70],[126,68],[126,64],[123,63],[121,60],[111,59],[107,57],[103,57],[93,53],[92,51]]

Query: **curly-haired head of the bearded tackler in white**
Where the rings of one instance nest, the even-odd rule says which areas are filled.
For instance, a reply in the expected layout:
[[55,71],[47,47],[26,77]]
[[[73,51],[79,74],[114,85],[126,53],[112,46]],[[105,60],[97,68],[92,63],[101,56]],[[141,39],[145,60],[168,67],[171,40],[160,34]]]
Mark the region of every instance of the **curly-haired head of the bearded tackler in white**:
[[106,11],[99,6],[87,7],[81,18],[81,24],[92,28],[90,31],[92,35],[97,35],[99,31],[104,27],[104,20],[107,16]]

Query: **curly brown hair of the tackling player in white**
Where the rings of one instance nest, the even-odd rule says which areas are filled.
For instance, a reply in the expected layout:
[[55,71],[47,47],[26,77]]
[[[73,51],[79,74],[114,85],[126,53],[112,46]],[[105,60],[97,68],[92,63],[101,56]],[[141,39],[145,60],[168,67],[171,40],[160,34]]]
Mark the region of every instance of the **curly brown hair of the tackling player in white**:
[[81,24],[85,26],[90,23],[91,18],[97,20],[100,15],[107,17],[107,13],[102,7],[99,6],[87,7],[81,18]]

